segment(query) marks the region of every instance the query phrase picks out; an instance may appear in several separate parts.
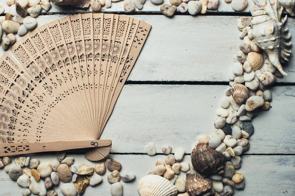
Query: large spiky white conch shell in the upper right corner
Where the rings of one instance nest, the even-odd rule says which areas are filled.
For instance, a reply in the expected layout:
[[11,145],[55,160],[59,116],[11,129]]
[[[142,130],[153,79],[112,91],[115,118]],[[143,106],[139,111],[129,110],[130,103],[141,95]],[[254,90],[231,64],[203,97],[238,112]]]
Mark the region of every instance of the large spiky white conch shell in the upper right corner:
[[[261,5],[257,0],[253,20],[251,25],[253,27],[253,37],[257,45],[266,51],[270,62],[283,74],[284,72],[281,62],[289,60],[291,55],[291,34],[288,33],[288,28],[284,28],[287,21],[287,16],[281,20],[283,7],[277,4],[275,0],[270,4],[269,0]],[[280,62],[281,61],[281,62]]]

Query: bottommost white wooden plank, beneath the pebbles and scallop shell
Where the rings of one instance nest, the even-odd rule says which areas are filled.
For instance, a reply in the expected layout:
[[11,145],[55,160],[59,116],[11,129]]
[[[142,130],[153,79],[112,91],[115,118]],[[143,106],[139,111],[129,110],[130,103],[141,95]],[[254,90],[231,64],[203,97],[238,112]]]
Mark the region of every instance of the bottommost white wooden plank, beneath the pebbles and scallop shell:
[[[68,155],[71,156],[71,155]],[[39,158],[41,162],[52,161],[56,158],[54,155],[33,156]],[[87,161],[83,155],[74,155],[75,163],[89,164],[94,166],[96,163]],[[111,155],[122,164],[123,171],[130,171],[136,174],[136,179],[129,183],[123,184],[123,196],[139,196],[137,193],[137,185],[139,180],[149,171],[152,171],[155,162],[158,159],[164,159],[164,155],[149,157],[148,155]],[[237,170],[245,176],[246,186],[243,191],[236,191],[238,196],[292,196],[295,194],[295,156],[243,156],[242,167]],[[184,161],[190,163],[190,156],[185,156]],[[107,171],[103,175],[103,181],[97,187],[87,187],[85,196],[111,196],[110,184],[107,181]],[[181,172],[179,177],[185,177],[185,173]],[[1,196],[19,196],[21,195],[21,187],[15,181],[11,181],[8,174],[0,170],[0,195]],[[61,192],[58,187],[54,187]]]

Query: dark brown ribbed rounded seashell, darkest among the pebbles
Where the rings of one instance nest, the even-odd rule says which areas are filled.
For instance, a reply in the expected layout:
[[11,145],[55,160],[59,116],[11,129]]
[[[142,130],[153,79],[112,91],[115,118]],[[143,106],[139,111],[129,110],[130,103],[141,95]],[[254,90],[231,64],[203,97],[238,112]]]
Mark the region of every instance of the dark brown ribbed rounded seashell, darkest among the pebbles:
[[200,174],[221,174],[224,171],[225,158],[221,152],[199,143],[191,152],[194,169]]

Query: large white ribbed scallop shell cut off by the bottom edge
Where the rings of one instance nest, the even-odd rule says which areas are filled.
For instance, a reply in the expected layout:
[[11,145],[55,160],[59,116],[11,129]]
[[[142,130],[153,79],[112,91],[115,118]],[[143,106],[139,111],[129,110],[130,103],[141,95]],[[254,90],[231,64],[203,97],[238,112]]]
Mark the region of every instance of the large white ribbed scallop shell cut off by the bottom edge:
[[146,175],[137,187],[140,196],[176,196],[177,188],[166,178],[159,175]]

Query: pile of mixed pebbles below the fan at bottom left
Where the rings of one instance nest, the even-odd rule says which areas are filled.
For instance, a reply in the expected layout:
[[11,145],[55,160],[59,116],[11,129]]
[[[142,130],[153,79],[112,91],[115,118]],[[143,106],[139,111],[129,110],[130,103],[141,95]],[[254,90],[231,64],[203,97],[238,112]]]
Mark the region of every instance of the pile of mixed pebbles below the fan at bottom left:
[[0,169],[4,168],[9,177],[22,188],[22,195],[57,196],[53,189],[60,185],[64,196],[82,195],[88,185],[94,187],[102,182],[102,175],[108,169],[111,173],[107,179],[111,185],[112,196],[122,196],[123,187],[120,180],[130,182],[135,178],[132,172],[119,172],[121,164],[115,159],[107,159],[105,163],[93,166],[76,164],[73,157],[66,157],[59,153],[57,158],[50,162],[40,162],[29,156],[19,156],[14,161],[10,157],[0,157]]

